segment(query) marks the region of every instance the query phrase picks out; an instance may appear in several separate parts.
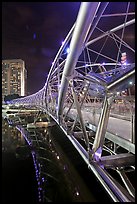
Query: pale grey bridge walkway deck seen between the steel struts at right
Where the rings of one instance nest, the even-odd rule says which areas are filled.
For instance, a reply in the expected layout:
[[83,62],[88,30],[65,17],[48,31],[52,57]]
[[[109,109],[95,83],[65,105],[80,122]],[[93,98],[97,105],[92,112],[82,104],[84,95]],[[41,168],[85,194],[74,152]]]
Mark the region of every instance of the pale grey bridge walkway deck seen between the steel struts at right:
[[[93,112],[83,109],[82,115],[84,122],[88,124],[87,127],[93,131],[96,131],[99,121],[99,114],[94,114]],[[75,120],[77,116],[76,109],[71,109],[69,116]],[[133,143],[134,138],[132,138],[131,125],[131,121],[129,120],[118,118],[118,116],[110,116],[106,138],[127,149],[128,151],[135,153],[135,144]]]

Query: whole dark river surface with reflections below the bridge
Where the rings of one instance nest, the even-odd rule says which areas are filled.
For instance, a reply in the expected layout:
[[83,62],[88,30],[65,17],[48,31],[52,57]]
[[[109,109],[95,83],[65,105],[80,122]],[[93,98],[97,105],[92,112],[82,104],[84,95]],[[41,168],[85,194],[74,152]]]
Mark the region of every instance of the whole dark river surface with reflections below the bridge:
[[58,126],[2,121],[2,203],[111,201]]

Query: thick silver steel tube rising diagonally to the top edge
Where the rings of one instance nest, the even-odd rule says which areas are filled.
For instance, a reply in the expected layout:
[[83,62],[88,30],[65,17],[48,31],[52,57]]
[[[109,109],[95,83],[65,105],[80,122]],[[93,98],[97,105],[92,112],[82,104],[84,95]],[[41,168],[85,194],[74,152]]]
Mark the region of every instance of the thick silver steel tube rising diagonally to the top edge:
[[92,25],[94,17],[99,8],[100,2],[82,2],[78,13],[75,29],[70,43],[70,52],[67,56],[66,63],[61,79],[61,87],[58,98],[58,119],[63,112],[64,100],[68,89],[68,83],[73,78],[73,71],[78,58],[83,50],[84,42]]

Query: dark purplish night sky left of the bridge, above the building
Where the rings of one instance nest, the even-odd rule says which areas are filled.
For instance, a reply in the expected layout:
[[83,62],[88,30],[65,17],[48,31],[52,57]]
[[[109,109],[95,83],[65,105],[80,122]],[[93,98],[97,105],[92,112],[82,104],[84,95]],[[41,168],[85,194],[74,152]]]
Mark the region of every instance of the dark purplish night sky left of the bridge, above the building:
[[25,61],[29,94],[44,86],[79,8],[80,2],[2,3],[2,59]]

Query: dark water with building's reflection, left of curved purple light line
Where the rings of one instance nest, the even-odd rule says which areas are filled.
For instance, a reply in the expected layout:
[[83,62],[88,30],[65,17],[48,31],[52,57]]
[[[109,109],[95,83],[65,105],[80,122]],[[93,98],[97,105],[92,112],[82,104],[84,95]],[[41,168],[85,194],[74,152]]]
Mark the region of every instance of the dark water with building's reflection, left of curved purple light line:
[[[23,136],[2,120],[2,203],[36,199],[33,162]],[[32,185],[32,186],[31,186]],[[29,192],[30,189],[30,192]]]

